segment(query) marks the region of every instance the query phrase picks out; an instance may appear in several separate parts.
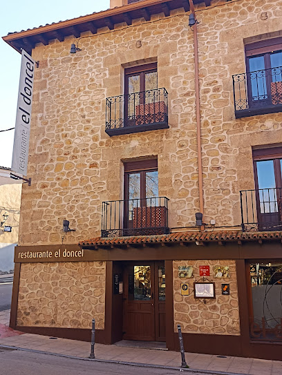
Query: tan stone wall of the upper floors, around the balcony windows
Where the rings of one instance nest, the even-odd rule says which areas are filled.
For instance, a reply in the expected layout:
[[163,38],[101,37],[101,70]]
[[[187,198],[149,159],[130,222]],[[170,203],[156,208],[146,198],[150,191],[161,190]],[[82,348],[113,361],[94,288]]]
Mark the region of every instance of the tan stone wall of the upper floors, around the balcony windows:
[[[32,186],[23,186],[20,244],[59,243],[64,218],[76,229],[68,243],[100,235],[102,201],[123,198],[121,161],[152,155],[158,156],[159,195],[170,200],[169,227],[194,227],[198,164],[188,16],[180,9],[166,19],[86,33],[75,55],[72,37],[37,45]],[[282,142],[282,114],[235,119],[232,75],[245,71],[245,41],[280,32],[281,0],[213,1],[198,6],[197,17],[205,221],[239,225],[239,190],[254,188],[252,146]],[[122,94],[124,68],[151,61],[158,61],[158,86],[169,92],[170,128],[109,137],[106,97]]]

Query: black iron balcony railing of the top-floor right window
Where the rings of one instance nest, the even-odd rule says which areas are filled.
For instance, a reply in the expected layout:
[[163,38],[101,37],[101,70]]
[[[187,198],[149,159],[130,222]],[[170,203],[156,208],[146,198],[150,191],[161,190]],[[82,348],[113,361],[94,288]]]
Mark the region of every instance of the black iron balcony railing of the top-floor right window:
[[236,119],[282,111],[282,67],[233,75]]

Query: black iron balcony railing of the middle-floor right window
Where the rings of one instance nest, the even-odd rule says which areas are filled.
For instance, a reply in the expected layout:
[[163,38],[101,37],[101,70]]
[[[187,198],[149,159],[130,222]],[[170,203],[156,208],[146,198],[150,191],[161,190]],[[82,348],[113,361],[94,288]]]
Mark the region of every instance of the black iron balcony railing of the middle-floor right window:
[[282,189],[240,191],[243,231],[282,230]]

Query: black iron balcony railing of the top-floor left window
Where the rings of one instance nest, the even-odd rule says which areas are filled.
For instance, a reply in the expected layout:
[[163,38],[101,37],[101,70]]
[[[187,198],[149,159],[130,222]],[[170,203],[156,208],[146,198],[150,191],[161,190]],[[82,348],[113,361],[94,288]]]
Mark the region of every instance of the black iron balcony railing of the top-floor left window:
[[106,133],[113,135],[169,128],[165,88],[106,99]]

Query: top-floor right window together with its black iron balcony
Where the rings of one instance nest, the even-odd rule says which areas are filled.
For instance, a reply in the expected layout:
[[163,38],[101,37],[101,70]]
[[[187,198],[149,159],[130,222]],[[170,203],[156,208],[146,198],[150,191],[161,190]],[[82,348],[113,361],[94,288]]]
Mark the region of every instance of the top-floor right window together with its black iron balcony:
[[282,38],[245,46],[247,73],[233,76],[236,118],[282,110]]

